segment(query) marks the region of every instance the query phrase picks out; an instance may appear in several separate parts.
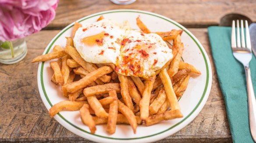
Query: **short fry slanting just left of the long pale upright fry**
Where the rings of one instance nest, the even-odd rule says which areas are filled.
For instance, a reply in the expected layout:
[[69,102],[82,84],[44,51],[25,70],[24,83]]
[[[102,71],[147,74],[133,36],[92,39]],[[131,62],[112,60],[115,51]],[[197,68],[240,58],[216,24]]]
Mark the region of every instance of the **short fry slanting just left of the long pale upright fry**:
[[149,106],[149,113],[151,115],[156,114],[160,107],[164,104],[166,99],[164,88],[160,91],[159,95],[153,101],[153,103]]

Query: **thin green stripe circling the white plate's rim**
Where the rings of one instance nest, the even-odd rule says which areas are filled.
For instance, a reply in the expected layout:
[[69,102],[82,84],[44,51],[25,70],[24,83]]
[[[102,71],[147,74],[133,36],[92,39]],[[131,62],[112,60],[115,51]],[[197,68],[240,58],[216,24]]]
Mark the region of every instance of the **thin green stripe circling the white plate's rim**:
[[[96,15],[93,15],[93,16],[91,16],[91,17],[96,17],[96,16],[102,15],[102,14],[117,13],[117,12],[133,12],[133,13],[141,13],[141,14],[152,15],[152,16],[159,17],[159,18],[161,18],[161,19],[167,20],[168,22],[170,22],[170,23],[172,23],[172,24],[178,26],[180,29],[182,29],[182,27],[181,27],[180,25],[175,24],[175,23],[173,23],[172,21],[170,21],[170,20],[168,20],[168,19],[165,19],[164,17],[160,17],[160,16],[157,16],[157,15],[154,15],[154,14],[149,14],[149,13],[145,13],[145,12],[141,12],[141,11],[129,11],[129,10],[111,11],[111,12],[105,12],[105,13],[96,14]],[[91,17],[86,17],[86,18],[84,18],[84,19],[82,19],[82,20],[79,20],[78,22],[81,22],[81,21],[83,21],[83,20],[89,19],[89,18],[91,18]],[[71,25],[70,25],[69,27],[67,27],[64,31],[61,31],[61,33],[51,42],[51,44],[50,44],[50,46],[49,46],[49,48],[47,49],[47,51],[46,51],[45,54],[47,54],[47,53],[50,51],[50,49],[51,49],[51,47],[53,46],[54,42],[55,42],[65,31],[67,31],[69,28],[71,28],[71,27],[73,27],[73,26],[74,26],[74,24],[71,24]],[[113,140],[136,140],[136,139],[142,139],[142,138],[147,138],[147,137],[151,137],[151,136],[156,136],[156,135],[161,134],[161,133],[164,133],[164,132],[166,132],[166,131],[168,131],[168,130],[170,130],[170,129],[173,129],[174,127],[176,127],[176,126],[178,126],[179,124],[181,124],[182,122],[184,122],[186,119],[188,119],[189,116],[192,115],[193,112],[196,111],[196,109],[198,108],[198,106],[200,105],[200,103],[203,101],[203,98],[204,98],[204,96],[205,96],[205,94],[206,94],[206,90],[207,90],[207,87],[208,87],[208,84],[209,84],[209,67],[208,67],[209,65],[208,65],[208,63],[207,63],[206,56],[205,56],[205,54],[203,53],[202,48],[199,46],[199,44],[197,43],[197,41],[194,39],[194,37],[192,37],[192,36],[188,33],[188,31],[186,31],[186,30],[184,30],[184,31],[193,39],[193,41],[196,43],[196,45],[197,45],[198,48],[200,49],[201,53],[203,54],[203,58],[204,58],[204,61],[205,61],[205,64],[206,64],[206,85],[205,85],[205,89],[204,89],[204,91],[203,91],[203,95],[202,95],[201,99],[199,100],[199,102],[197,103],[196,107],[192,110],[192,112],[190,112],[190,113],[188,114],[188,116],[186,116],[184,119],[182,119],[179,123],[175,124],[174,126],[171,126],[170,128],[168,128],[168,129],[166,129],[166,130],[164,130],[164,131],[162,131],[162,132],[155,133],[155,134],[149,135],[149,136],[142,136],[142,137],[137,137],[137,138],[112,138],[112,137],[108,137],[108,136],[100,136],[100,135],[97,135],[97,134],[91,134],[91,133],[85,131],[84,129],[81,129],[81,128],[79,128],[78,126],[75,126],[74,124],[70,123],[70,122],[69,122],[67,119],[65,119],[60,113],[58,113],[58,116],[60,116],[64,121],[66,121],[66,122],[67,122],[68,124],[70,124],[71,126],[75,127],[76,129],[81,130],[81,131],[84,132],[84,133],[88,133],[88,134],[90,134],[90,135],[98,136],[98,137],[102,137],[102,138],[113,139]],[[169,44],[170,44],[170,43],[169,43]],[[183,60],[183,59],[182,59],[182,60]],[[45,90],[45,88],[44,88],[44,83],[43,83],[43,66],[44,66],[44,62],[42,62],[41,71],[40,71],[41,85],[42,85],[43,93],[44,93],[44,95],[45,95],[45,97],[46,97],[46,100],[48,101],[48,103],[50,104],[50,106],[53,106],[52,103],[50,102],[50,100],[49,100],[49,98],[48,98],[48,96],[47,96],[47,94],[46,94],[46,90]]]

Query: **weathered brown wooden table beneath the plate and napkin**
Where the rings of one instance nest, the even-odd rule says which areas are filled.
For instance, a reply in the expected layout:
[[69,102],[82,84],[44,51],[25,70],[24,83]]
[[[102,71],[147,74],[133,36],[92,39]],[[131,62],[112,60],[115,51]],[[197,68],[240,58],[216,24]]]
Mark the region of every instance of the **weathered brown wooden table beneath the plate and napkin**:
[[[0,142],[90,142],[50,119],[37,87],[38,63],[32,58],[43,53],[61,28],[81,17],[112,9],[139,9],[162,14],[186,27],[217,25],[232,12],[256,21],[256,1],[248,0],[137,0],[119,6],[109,0],[60,0],[57,15],[47,30],[26,38],[28,54],[14,65],[0,64]],[[210,96],[199,115],[179,132],[158,143],[232,142],[223,97],[215,71],[206,28],[188,28],[203,44],[213,71]]]

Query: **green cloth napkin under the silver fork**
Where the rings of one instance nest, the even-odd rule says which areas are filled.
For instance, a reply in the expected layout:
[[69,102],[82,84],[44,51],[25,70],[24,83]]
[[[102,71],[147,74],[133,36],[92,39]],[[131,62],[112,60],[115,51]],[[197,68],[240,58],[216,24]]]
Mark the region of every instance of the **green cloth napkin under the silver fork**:
[[[231,50],[231,27],[208,27],[208,34],[234,143],[253,143],[249,128],[245,70]],[[256,92],[256,59],[249,65]]]

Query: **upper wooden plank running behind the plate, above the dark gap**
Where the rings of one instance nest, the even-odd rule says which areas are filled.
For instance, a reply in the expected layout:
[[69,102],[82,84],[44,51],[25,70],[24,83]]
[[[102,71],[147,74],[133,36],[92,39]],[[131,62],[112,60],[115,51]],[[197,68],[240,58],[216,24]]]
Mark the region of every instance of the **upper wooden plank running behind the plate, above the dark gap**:
[[110,0],[60,0],[55,19],[47,29],[58,29],[75,20],[105,10],[146,10],[171,18],[185,27],[217,25],[226,14],[244,14],[256,21],[255,0],[137,0],[117,5]]

